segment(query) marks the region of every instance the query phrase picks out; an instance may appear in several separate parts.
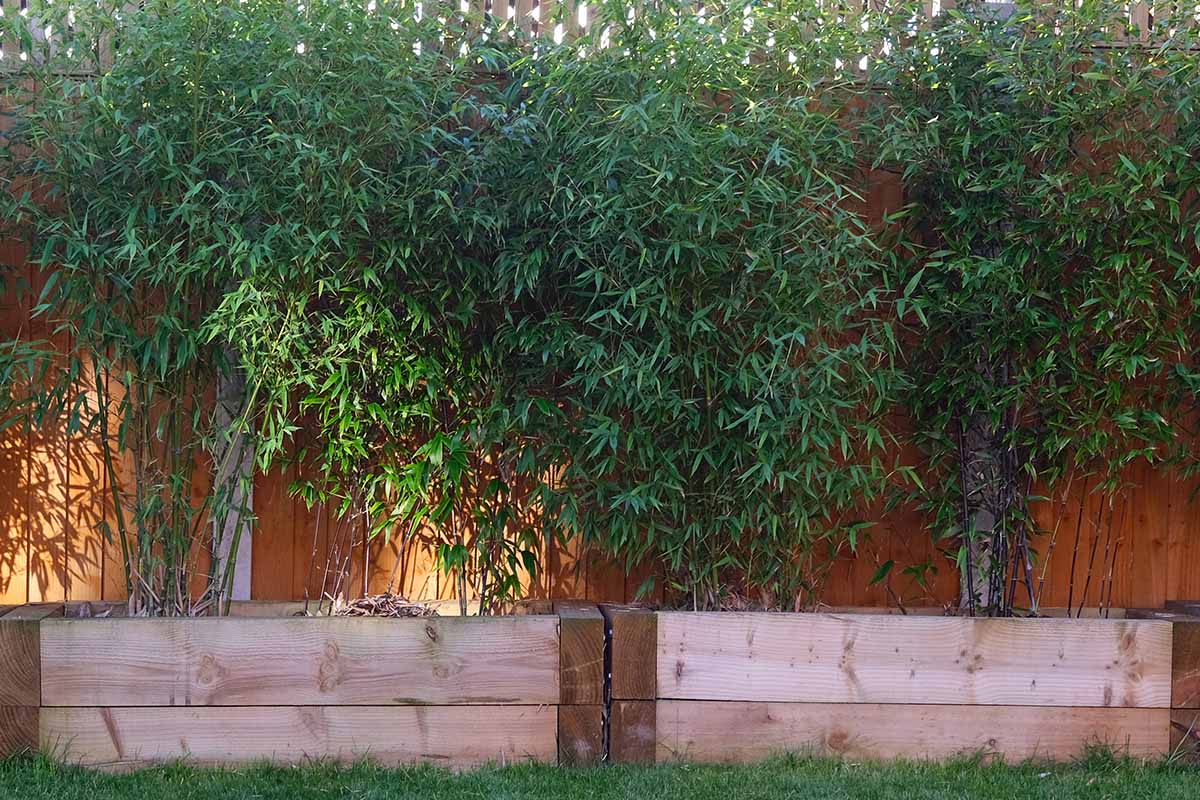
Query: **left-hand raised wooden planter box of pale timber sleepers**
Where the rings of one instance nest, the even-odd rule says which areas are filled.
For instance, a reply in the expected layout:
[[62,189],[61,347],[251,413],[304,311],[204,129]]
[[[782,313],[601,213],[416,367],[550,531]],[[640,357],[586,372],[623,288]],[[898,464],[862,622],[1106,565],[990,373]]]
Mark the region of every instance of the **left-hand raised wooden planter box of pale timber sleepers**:
[[[0,752],[127,768],[598,760],[602,619],[0,619]],[[600,640],[594,663],[588,636]],[[559,720],[566,730],[559,736]]]

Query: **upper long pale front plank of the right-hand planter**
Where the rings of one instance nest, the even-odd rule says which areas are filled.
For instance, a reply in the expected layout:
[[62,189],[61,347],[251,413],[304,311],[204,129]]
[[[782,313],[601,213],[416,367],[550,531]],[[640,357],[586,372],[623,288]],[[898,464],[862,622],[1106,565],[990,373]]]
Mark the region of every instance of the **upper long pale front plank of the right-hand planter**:
[[659,614],[659,697],[1168,708],[1159,621]]

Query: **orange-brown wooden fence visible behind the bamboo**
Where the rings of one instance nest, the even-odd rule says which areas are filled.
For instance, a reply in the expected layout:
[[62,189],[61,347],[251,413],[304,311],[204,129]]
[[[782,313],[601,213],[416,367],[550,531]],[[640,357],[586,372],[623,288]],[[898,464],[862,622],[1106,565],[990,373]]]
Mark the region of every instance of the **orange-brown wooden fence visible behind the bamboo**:
[[[935,5],[949,7],[942,2],[930,8]],[[486,7],[518,22],[550,19],[552,8],[562,10],[560,4],[538,0],[498,0]],[[1152,5],[1133,4],[1130,18],[1145,24],[1152,18]],[[868,196],[868,215],[881,218],[901,201],[896,179],[877,175]],[[36,296],[40,277],[25,255],[19,242],[0,242],[0,263],[22,276]],[[30,313],[28,295],[0,297],[0,337],[44,338],[49,325]],[[251,599],[299,600],[320,591],[313,561],[323,563],[334,547],[329,534],[334,525],[326,512],[307,509],[289,495],[294,477],[288,471],[256,476]],[[1086,481],[1079,481],[1066,497],[1037,510],[1046,529],[1063,528],[1058,523],[1068,510],[1066,529],[1075,536],[1068,542],[1063,540],[1072,534],[1063,534],[1055,547],[1049,537],[1034,543],[1046,554],[1038,567],[1044,579],[1043,604],[1158,607],[1169,600],[1200,597],[1200,505],[1193,500],[1200,481],[1142,465],[1130,468],[1126,479],[1127,487],[1115,498],[1093,494]],[[197,482],[196,491],[206,491],[204,481]],[[120,548],[100,534],[110,492],[95,441],[54,429],[0,432],[0,603],[124,597]],[[956,575],[931,542],[918,511],[866,510],[865,518],[875,523],[868,531],[870,540],[835,564],[821,596],[824,602],[936,607],[955,601]],[[1100,553],[1103,567],[1094,569],[1094,555],[1074,558],[1075,553]],[[626,576],[610,560],[577,546],[548,545],[541,561],[541,573],[527,585],[530,597],[631,601],[643,579],[655,572],[655,565],[648,564]],[[886,561],[896,569],[888,581],[872,584],[871,577]],[[938,567],[926,585],[902,572],[905,566],[923,563]],[[434,569],[432,546],[420,541],[403,552],[395,543],[360,542],[350,553],[349,587],[353,595],[390,587],[415,600],[456,596],[455,582]]]

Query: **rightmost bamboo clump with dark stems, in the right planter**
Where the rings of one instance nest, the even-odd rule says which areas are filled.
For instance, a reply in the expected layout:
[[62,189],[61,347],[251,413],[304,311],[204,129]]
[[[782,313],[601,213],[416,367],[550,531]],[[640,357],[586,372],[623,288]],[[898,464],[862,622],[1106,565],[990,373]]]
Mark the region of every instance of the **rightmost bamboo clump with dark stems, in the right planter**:
[[923,497],[991,610],[1018,577],[1037,604],[1034,493],[1111,493],[1189,444],[1200,60],[1194,20],[1157,22],[1124,47],[1112,6],[967,6],[872,71],[869,138],[912,203],[890,288]]

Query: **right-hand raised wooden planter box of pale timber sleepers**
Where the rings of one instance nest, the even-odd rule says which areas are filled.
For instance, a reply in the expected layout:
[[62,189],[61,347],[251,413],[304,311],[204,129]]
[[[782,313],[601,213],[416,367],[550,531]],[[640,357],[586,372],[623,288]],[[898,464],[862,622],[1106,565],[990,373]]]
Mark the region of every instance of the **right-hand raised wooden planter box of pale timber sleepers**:
[[623,760],[1162,757],[1200,727],[1195,618],[610,618]]

